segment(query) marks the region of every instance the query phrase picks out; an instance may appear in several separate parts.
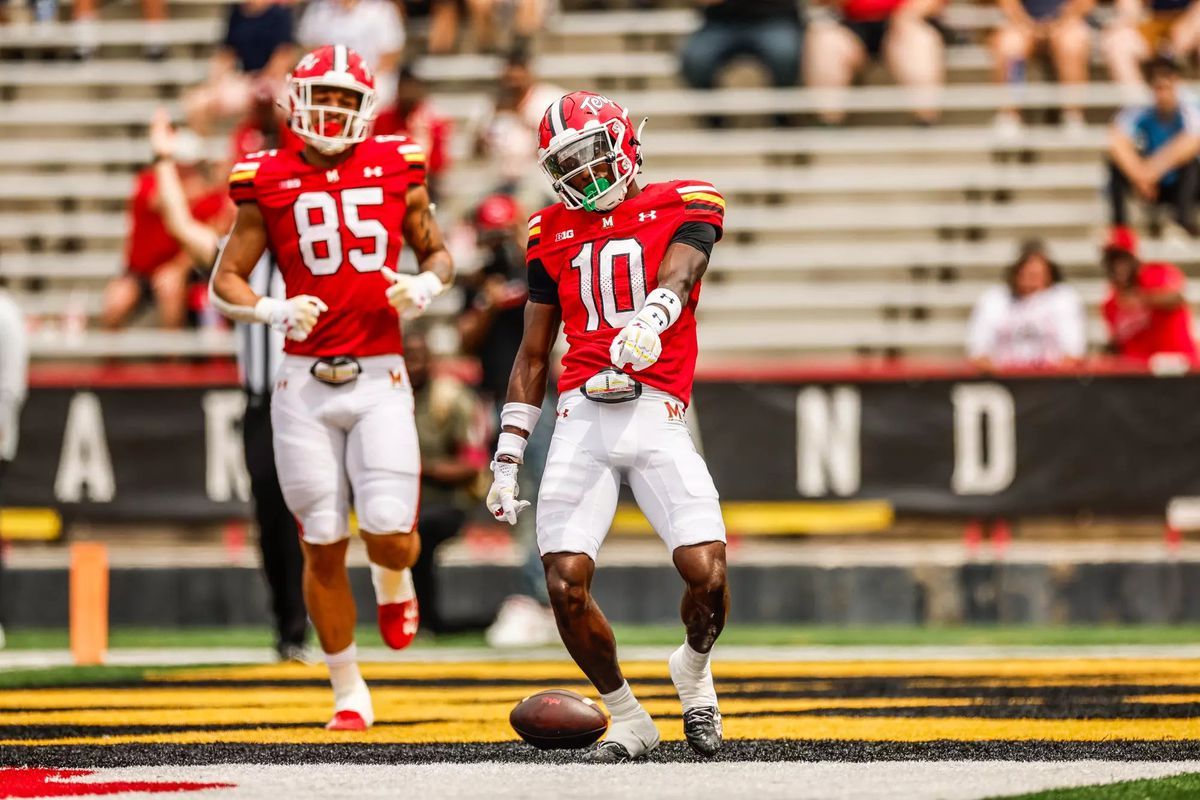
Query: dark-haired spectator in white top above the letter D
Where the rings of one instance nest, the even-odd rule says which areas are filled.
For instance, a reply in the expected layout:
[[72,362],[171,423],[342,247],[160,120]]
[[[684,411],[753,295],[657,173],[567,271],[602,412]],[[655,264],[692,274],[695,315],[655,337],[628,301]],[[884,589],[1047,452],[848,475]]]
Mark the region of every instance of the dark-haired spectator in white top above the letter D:
[[967,356],[980,369],[1061,367],[1087,351],[1084,303],[1045,245],[1028,241],[1004,275],[976,301]]

